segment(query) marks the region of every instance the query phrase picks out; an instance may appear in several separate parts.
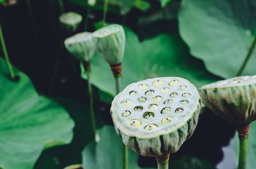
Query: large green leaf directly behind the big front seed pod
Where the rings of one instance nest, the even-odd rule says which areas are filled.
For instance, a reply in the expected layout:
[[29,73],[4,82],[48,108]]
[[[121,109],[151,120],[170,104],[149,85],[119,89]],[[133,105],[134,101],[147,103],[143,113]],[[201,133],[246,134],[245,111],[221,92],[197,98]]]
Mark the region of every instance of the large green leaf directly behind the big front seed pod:
[[[189,55],[189,51],[177,34],[161,34],[139,42],[135,33],[124,27],[126,49],[122,61],[121,89],[132,82],[163,77],[178,76],[188,79],[196,87],[216,81],[200,60]],[[81,67],[83,78],[87,78]],[[115,79],[109,65],[94,53],[91,59],[91,82],[110,95],[115,96]]]

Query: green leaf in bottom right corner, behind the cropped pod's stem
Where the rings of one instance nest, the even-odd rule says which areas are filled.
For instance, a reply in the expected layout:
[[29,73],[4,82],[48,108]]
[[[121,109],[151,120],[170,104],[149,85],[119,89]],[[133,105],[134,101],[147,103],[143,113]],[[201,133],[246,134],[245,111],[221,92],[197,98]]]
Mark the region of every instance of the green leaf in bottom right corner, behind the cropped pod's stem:
[[[247,169],[255,169],[256,161],[255,161],[255,154],[256,154],[256,122],[252,122],[249,130],[249,137],[248,137],[248,154],[247,154]],[[239,138],[238,133],[234,137],[234,157],[236,161],[236,166],[238,165],[238,157],[239,157]]]

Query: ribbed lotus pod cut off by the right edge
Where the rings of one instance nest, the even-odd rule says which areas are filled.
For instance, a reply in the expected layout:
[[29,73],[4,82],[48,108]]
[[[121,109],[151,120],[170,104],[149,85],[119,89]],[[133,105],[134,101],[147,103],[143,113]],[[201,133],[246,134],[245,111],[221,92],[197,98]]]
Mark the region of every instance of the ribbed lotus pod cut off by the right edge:
[[238,76],[204,85],[203,103],[218,116],[238,124],[256,120],[256,76]]

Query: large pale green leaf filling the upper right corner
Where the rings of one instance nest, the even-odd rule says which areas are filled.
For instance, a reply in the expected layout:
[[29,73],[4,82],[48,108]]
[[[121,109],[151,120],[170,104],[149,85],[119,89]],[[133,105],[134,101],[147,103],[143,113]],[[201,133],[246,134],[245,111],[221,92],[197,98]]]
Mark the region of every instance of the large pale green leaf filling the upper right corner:
[[[179,29],[193,56],[223,78],[236,76],[256,33],[255,0],[182,0]],[[255,54],[243,75],[256,74]]]

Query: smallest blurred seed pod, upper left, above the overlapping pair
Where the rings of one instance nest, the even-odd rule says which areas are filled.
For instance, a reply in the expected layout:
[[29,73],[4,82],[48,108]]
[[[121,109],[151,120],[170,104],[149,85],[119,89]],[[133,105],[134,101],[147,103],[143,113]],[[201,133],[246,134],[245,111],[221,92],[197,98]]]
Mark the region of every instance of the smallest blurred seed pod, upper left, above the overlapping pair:
[[65,26],[68,32],[76,31],[76,28],[82,21],[82,16],[75,12],[63,13],[59,20]]

